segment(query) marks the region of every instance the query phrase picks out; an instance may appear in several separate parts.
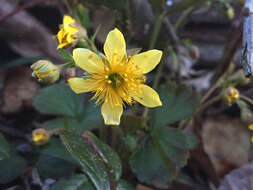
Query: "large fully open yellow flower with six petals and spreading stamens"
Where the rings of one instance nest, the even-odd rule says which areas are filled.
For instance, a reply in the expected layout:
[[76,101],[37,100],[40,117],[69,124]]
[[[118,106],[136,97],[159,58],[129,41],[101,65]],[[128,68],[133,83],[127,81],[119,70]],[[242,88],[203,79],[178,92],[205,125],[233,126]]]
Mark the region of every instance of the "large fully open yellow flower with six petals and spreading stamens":
[[74,49],[77,66],[87,74],[85,78],[71,78],[68,83],[75,93],[95,93],[93,98],[103,103],[101,113],[105,124],[119,125],[124,102],[131,105],[138,101],[147,107],[162,105],[156,91],[144,84],[144,74],[160,62],[162,51],[150,50],[127,57],[124,36],[114,29],[106,38],[104,52],[106,58],[88,49]]

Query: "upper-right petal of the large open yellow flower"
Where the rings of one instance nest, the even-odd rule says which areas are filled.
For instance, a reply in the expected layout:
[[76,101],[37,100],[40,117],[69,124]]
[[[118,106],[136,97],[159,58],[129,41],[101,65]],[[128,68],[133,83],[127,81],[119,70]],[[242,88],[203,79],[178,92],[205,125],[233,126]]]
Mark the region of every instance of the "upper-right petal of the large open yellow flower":
[[162,51],[149,50],[132,57],[133,62],[137,65],[143,74],[152,71],[161,60]]

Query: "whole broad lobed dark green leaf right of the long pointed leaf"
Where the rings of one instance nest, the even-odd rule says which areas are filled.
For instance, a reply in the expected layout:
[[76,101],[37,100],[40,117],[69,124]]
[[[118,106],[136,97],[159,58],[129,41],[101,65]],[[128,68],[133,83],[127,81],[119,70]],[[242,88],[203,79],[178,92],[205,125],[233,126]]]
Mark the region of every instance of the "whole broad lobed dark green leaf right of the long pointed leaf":
[[169,183],[177,175],[176,168],[186,165],[189,149],[196,144],[193,134],[172,127],[155,128],[131,156],[131,168],[142,182]]

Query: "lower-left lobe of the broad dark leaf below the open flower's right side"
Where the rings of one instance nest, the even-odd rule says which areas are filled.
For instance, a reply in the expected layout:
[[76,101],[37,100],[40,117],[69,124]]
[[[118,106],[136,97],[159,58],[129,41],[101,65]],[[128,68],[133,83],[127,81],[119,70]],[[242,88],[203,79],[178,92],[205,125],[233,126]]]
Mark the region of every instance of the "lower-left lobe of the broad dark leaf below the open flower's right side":
[[175,178],[175,166],[151,139],[142,141],[142,146],[130,158],[130,166],[144,183],[151,184],[155,180],[166,184]]

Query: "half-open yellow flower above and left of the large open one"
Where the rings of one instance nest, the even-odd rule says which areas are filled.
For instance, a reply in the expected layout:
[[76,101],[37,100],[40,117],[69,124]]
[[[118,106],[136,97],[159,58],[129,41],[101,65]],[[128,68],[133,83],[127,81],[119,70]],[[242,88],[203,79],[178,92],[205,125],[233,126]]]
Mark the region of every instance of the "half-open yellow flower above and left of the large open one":
[[60,27],[60,31],[57,34],[59,45],[57,49],[75,46],[80,38],[87,36],[86,30],[81,27],[75,19],[65,15],[63,17],[63,24]]

